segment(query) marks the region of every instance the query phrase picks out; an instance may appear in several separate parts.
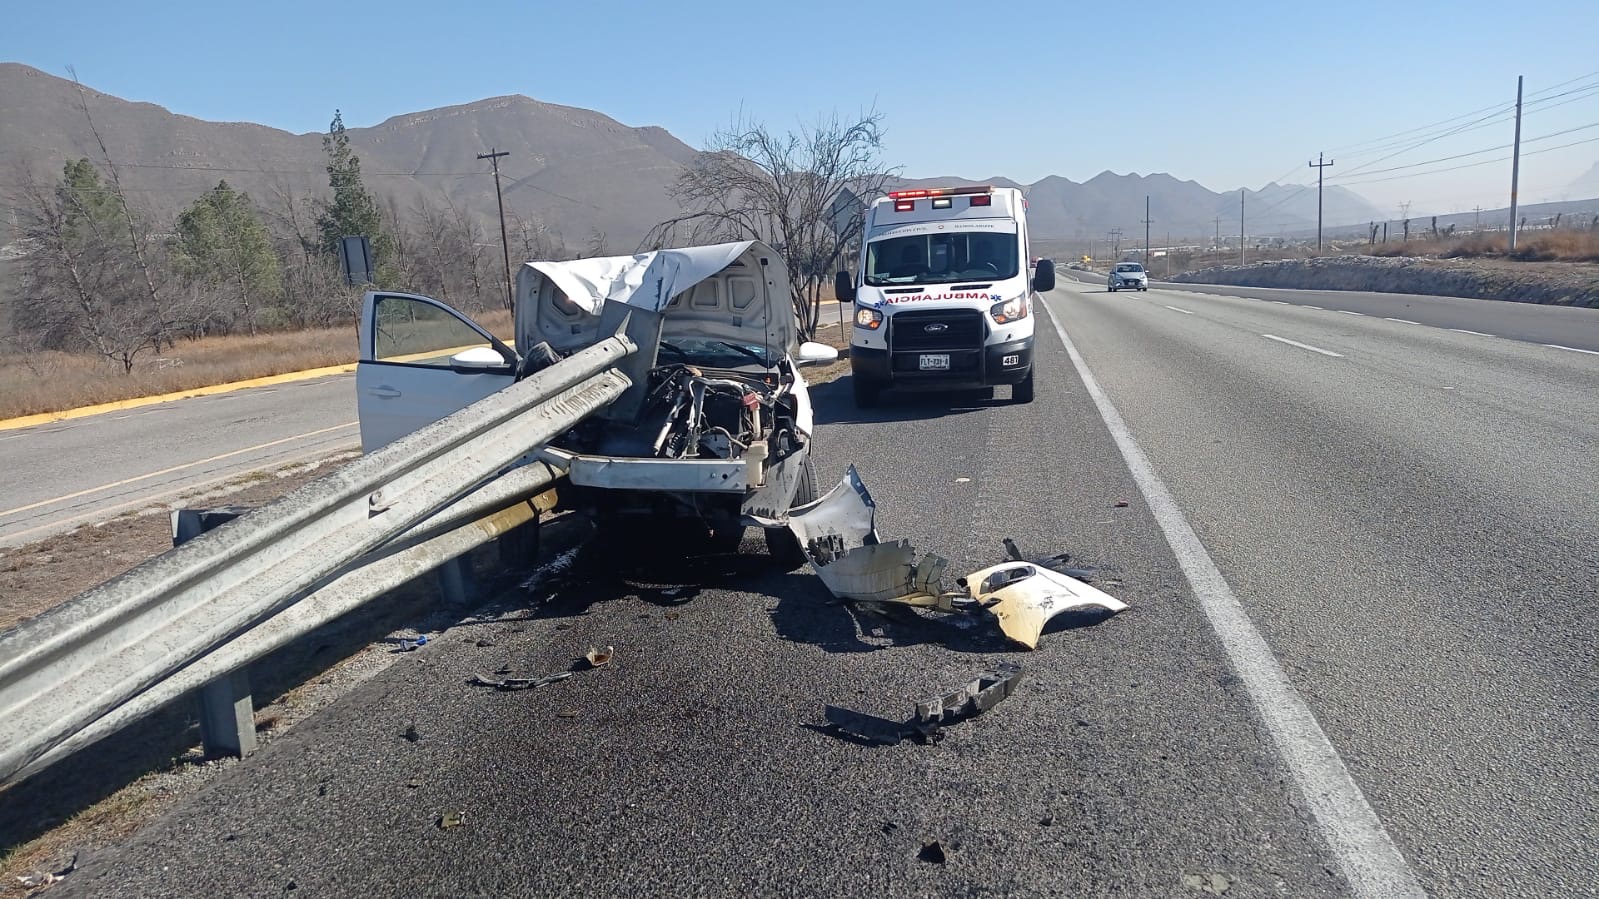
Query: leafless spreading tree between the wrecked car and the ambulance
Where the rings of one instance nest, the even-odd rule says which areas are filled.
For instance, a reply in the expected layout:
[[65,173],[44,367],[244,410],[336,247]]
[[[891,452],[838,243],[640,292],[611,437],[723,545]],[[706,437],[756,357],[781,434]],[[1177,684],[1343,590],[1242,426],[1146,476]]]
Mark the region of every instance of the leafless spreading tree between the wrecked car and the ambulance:
[[[688,213],[656,226],[641,248],[755,238],[782,253],[801,333],[815,336],[823,285],[859,232],[833,230],[839,190],[881,194],[899,170],[881,158],[883,115],[844,122],[836,114],[777,134],[744,117],[716,133],[689,163],[673,197]],[[855,226],[859,227],[859,226]]]

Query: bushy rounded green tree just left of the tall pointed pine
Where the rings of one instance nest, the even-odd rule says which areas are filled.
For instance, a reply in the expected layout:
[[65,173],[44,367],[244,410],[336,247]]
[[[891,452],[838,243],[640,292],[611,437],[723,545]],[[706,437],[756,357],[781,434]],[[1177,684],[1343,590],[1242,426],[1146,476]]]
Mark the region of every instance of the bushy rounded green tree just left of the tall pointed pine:
[[190,283],[225,291],[254,334],[259,304],[281,293],[281,266],[272,235],[248,194],[227,181],[206,190],[177,216],[173,266]]

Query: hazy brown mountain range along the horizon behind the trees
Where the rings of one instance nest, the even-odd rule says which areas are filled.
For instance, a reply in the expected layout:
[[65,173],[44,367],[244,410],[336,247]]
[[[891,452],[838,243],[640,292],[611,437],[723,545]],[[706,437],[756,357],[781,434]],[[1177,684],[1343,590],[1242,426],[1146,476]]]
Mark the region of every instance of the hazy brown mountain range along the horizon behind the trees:
[[[286,198],[326,194],[318,133],[203,122],[91,88],[83,88],[83,101],[123,186],[161,219],[176,216],[219,179],[248,190],[269,211],[283,211]],[[494,222],[494,179],[477,155],[508,150],[500,174],[513,227],[521,219],[574,250],[603,237],[609,251],[630,251],[656,222],[681,211],[668,187],[697,152],[664,128],[628,126],[600,112],[526,96],[397,115],[371,128],[350,128],[349,138],[368,187],[382,200],[400,210],[451,203],[484,226]],[[62,163],[77,157],[101,158],[78,86],[0,62],[0,160],[11,166],[0,173],[0,182],[53,181]],[[902,182],[977,184],[961,178]],[[1217,194],[1162,173],[1107,171],[1081,184],[1060,176],[1033,184],[1006,178],[983,182],[1022,187],[1039,238],[1095,238],[1118,227],[1132,235],[1142,230],[1145,197],[1154,234],[1238,232],[1238,190]],[[1329,187],[1324,203],[1329,226],[1383,218],[1340,187]],[[1244,190],[1244,205],[1250,234],[1316,224],[1314,187],[1268,184]]]

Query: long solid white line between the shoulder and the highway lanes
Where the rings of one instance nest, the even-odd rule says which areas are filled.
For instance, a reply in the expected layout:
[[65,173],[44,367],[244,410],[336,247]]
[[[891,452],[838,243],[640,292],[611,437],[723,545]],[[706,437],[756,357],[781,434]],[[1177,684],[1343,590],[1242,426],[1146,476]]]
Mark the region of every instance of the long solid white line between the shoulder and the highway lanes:
[[1394,846],[1370,803],[1366,801],[1366,793],[1350,776],[1350,769],[1343,765],[1343,758],[1327,739],[1326,731],[1321,729],[1310,705],[1294,689],[1282,672],[1282,664],[1271,654],[1271,648],[1255,622],[1250,621],[1249,613],[1244,611],[1244,605],[1233,593],[1226,577],[1222,576],[1222,569],[1206,552],[1199,534],[1177,507],[1172,491],[1154,473],[1154,465],[1143,454],[1143,448],[1138,446],[1132,432],[1127,430],[1121,413],[1094,379],[1094,373],[1089,371],[1078,347],[1067,336],[1060,318],[1051,312],[1049,320],[1055,326],[1055,333],[1060,334],[1060,342],[1067,346],[1071,365],[1076,366],[1083,386],[1094,398],[1094,405],[1099,406],[1100,418],[1105,419],[1105,427],[1110,429],[1116,448],[1127,461],[1127,470],[1137,481],[1145,502],[1150,504],[1156,523],[1166,534],[1166,542],[1177,555],[1177,565],[1182,566],[1194,598],[1199,600],[1199,608],[1204,609],[1210,627],[1222,640],[1222,648],[1226,651],[1233,670],[1238,672],[1238,678],[1249,689],[1249,696],[1254,699],[1278,752],[1282,753],[1282,761],[1287,765],[1300,797],[1316,816],[1316,824],[1327,845],[1332,846],[1332,854],[1354,894],[1372,899],[1425,897],[1426,891],[1422,889],[1410,864]]

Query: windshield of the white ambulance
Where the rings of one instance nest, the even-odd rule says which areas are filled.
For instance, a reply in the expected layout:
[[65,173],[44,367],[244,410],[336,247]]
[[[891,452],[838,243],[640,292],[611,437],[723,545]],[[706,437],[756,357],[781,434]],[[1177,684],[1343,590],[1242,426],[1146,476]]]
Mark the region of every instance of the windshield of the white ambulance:
[[1014,278],[1020,266],[1014,234],[915,234],[867,245],[867,283],[873,286]]

